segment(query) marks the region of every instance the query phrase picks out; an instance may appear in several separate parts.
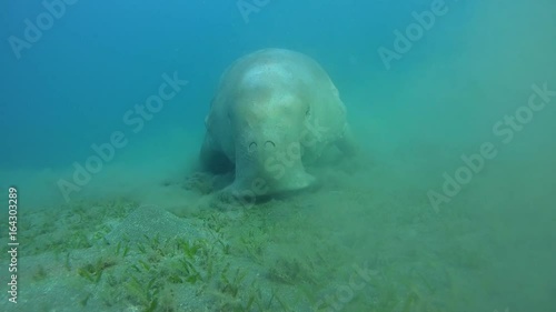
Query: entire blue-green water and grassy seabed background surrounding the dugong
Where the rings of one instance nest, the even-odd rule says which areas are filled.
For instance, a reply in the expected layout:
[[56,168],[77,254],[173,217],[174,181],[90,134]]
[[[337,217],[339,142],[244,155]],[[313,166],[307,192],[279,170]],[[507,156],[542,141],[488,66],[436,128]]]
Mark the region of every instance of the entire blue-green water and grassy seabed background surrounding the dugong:
[[[0,311],[556,311],[554,12],[2,1]],[[221,73],[264,48],[322,66],[361,151],[311,168],[319,190],[236,207],[198,151]]]

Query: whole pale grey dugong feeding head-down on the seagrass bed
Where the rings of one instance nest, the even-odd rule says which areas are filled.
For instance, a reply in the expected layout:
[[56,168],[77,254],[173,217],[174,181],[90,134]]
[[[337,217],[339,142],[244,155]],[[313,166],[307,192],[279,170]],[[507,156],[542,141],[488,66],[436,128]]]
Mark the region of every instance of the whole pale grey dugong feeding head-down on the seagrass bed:
[[346,108],[326,71],[290,50],[265,49],[221,76],[200,151],[205,170],[235,171],[222,191],[255,198],[307,189],[305,167],[335,144],[354,153]]

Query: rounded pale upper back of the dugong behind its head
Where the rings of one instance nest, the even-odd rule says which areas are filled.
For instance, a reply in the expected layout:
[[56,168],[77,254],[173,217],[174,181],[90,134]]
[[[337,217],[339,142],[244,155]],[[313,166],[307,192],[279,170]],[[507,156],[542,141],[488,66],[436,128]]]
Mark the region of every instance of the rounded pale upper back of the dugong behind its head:
[[[235,61],[220,78],[207,127],[226,124],[225,112],[238,103],[272,103],[268,99],[280,94],[295,95],[310,104],[311,119],[327,127],[321,145],[341,135],[346,111],[330,78],[311,58],[285,49],[259,50]],[[224,145],[225,152],[232,152],[232,147]]]

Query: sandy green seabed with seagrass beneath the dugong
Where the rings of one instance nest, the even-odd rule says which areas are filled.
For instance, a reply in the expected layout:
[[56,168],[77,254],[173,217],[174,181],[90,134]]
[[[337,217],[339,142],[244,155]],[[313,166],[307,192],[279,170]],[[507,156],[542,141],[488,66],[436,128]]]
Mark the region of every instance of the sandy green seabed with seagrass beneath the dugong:
[[[1,309],[550,311],[548,189],[514,195],[523,185],[505,169],[522,182],[527,175],[502,158],[435,210],[427,192],[441,192],[441,173],[460,165],[429,163],[443,153],[364,150],[310,168],[319,189],[252,207],[216,199],[210,175],[185,167],[169,174],[162,164],[158,177],[139,179],[150,184],[118,189],[112,175],[98,181],[106,191],[91,185],[69,203],[24,205],[18,303],[6,299]],[[141,172],[113,168],[118,177]]]

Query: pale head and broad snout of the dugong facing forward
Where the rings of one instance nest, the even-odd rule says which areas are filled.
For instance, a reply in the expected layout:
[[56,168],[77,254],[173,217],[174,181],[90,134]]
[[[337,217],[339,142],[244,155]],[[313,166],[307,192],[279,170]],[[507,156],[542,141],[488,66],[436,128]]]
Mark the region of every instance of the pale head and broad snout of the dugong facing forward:
[[288,83],[242,85],[229,105],[230,130],[235,138],[236,193],[267,197],[299,191],[315,184],[305,171],[304,137],[311,114],[310,104]]

